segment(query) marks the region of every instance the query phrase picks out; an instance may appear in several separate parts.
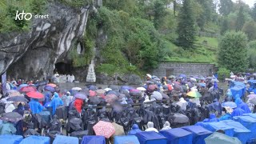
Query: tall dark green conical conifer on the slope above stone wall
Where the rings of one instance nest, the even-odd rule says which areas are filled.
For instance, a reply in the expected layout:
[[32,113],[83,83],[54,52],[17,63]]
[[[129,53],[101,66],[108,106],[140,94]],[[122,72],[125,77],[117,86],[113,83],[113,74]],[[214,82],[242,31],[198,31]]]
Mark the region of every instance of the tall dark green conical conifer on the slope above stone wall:
[[184,49],[194,47],[196,30],[193,7],[190,0],[184,0],[181,11],[178,13],[178,45]]

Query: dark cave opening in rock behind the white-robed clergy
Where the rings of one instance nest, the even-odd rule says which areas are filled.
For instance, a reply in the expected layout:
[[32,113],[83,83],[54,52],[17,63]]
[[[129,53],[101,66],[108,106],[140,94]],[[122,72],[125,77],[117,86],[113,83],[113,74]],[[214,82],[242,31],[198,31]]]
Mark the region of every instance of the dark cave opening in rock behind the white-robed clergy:
[[58,74],[72,74],[73,66],[72,63],[58,62],[55,63],[54,73]]

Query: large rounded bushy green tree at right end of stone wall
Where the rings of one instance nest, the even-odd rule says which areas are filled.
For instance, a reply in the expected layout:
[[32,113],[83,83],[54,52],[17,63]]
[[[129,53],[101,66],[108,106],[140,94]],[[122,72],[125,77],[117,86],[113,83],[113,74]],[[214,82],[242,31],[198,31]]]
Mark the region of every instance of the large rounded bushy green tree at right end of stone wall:
[[242,32],[227,32],[221,38],[218,45],[218,64],[233,72],[246,71],[247,61],[247,37]]

